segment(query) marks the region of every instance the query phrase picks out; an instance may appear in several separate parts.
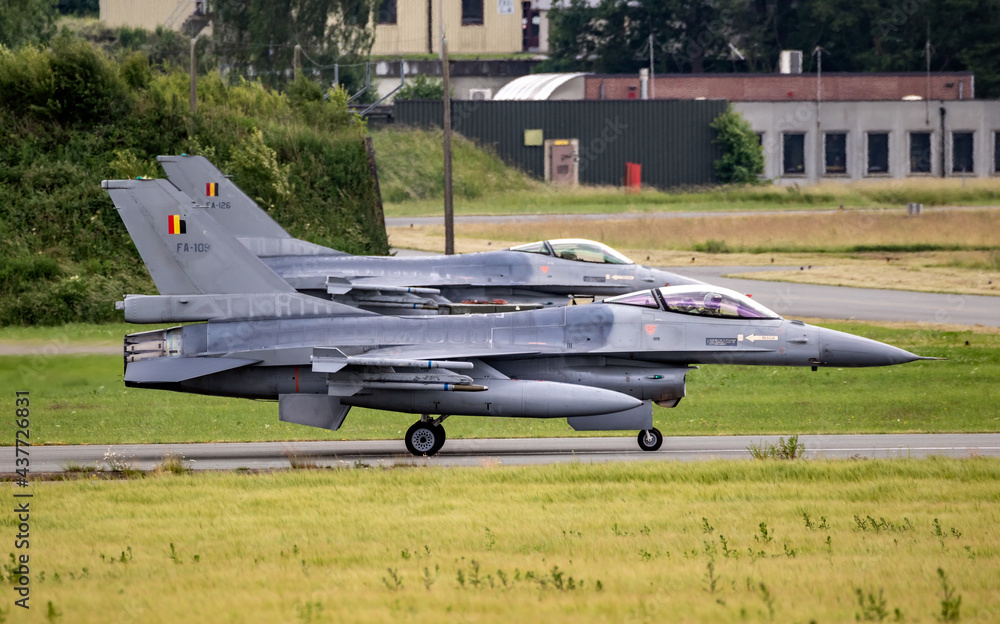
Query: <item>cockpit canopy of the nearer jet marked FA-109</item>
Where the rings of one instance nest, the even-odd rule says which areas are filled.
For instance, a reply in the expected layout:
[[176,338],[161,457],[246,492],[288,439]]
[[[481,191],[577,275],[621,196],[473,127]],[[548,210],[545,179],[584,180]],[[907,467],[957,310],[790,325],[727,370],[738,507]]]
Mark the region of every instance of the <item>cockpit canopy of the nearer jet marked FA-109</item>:
[[749,297],[717,286],[665,286],[612,297],[604,302],[713,318],[781,318]]

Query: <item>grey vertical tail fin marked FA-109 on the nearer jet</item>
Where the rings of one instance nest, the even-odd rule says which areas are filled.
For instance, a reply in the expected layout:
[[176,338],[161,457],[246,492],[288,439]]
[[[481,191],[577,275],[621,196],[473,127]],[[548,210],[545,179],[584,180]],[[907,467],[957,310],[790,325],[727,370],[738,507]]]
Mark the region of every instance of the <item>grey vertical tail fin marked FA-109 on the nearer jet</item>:
[[162,295],[294,293],[166,180],[104,180]]

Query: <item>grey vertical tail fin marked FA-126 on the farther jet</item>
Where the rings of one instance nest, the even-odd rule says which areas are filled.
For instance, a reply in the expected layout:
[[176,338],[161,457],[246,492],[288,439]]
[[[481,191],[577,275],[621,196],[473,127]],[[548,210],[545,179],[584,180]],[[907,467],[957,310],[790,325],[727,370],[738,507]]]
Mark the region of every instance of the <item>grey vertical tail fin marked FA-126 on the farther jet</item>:
[[204,156],[157,156],[171,184],[205,206],[230,234],[258,256],[340,255],[285,231]]

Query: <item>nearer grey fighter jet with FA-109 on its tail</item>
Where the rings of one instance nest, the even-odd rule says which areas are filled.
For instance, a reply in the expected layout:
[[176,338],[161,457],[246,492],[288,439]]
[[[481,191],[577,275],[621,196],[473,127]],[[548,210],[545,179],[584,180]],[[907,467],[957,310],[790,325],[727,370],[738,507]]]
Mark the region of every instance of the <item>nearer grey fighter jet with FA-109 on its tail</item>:
[[282,421],[336,430],[352,406],[419,414],[406,447],[433,455],[452,415],[566,418],[663,441],[696,364],[857,367],[921,358],[781,318],[707,285],[600,303],[461,316],[383,316],[296,292],[164,180],[103,183],[150,272],[175,295],[129,295],[125,384],[278,401]]

